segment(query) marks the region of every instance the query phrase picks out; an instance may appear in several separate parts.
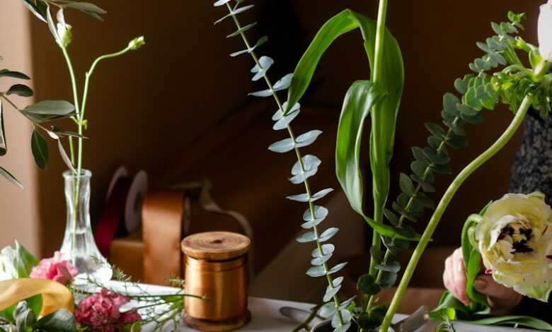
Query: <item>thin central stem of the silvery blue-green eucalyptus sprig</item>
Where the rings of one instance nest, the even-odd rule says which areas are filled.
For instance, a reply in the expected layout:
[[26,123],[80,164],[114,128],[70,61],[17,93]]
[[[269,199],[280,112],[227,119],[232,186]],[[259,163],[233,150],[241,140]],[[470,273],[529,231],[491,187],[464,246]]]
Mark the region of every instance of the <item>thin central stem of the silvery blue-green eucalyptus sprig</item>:
[[[226,7],[228,8],[229,12],[231,13],[232,18],[234,19],[234,23],[236,24],[236,28],[238,28],[238,30],[241,29],[241,23],[239,22],[236,15],[232,14],[231,6],[228,3],[226,3]],[[241,32],[240,35],[241,35],[241,39],[243,40],[243,43],[246,45],[246,47],[248,49],[251,49],[251,44],[249,43],[245,33]],[[257,55],[255,54],[255,51],[251,51],[249,53],[251,54],[251,57],[253,58],[253,61],[255,61],[255,64],[257,66],[259,66],[260,69],[263,69],[263,66],[261,66],[260,61],[259,61]],[[264,78],[265,78],[265,82],[268,85],[268,88],[272,91],[272,97],[274,97],[274,100],[275,100],[275,102],[278,106],[278,109],[280,109],[280,112],[282,112],[282,115],[283,115],[284,112],[285,112],[285,109],[283,109],[283,107],[282,107],[282,101],[280,100],[280,97],[278,97],[277,93],[273,89],[272,82],[270,81],[270,78],[268,78],[267,73],[265,73]],[[295,141],[295,134],[294,134],[294,131],[292,130],[292,127],[288,124],[286,126],[286,129],[287,129],[287,132],[289,134],[289,138],[292,138],[292,140]],[[297,161],[299,162],[299,167],[301,167],[301,172],[305,172],[305,167],[303,165],[301,151],[297,147],[295,147],[294,150],[295,150],[295,155],[297,156]],[[311,211],[311,215],[313,215],[313,217],[314,217],[314,215],[315,215],[315,213],[314,213],[314,204],[312,203],[312,201],[310,199],[312,194],[311,194],[311,186],[309,184],[309,179],[304,180],[304,185],[305,185],[306,193],[309,196],[309,209]],[[318,234],[318,227],[314,226],[313,231],[314,231],[314,235],[316,236],[316,238],[318,238],[318,235],[319,235]],[[322,247],[321,247],[321,245],[318,241],[316,241],[316,249],[318,249],[318,253],[321,256],[323,256]],[[333,289],[333,278],[331,277],[331,275],[328,274],[328,271],[329,271],[328,263],[324,263],[323,267],[324,267],[324,271],[326,271],[326,279],[328,280],[328,286]],[[339,318],[339,321],[340,321],[340,325],[343,326],[345,323],[343,321],[343,316],[341,315],[341,312],[339,310],[340,300],[338,298],[338,295],[333,296],[333,302],[335,303],[335,309],[337,309],[337,314],[338,314],[338,318]]]

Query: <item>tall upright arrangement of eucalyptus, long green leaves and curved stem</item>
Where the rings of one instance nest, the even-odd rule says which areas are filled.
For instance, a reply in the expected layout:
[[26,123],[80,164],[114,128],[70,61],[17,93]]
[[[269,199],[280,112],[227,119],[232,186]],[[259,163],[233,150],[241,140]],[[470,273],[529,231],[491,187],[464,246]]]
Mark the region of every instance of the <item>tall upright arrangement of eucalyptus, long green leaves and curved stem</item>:
[[[234,52],[231,57],[242,54],[251,56],[254,62],[253,81],[264,81],[267,88],[255,93],[255,97],[272,97],[277,107],[272,120],[272,129],[284,131],[287,138],[277,141],[269,147],[275,153],[292,152],[297,158],[292,167],[292,184],[304,186],[306,193],[294,194],[287,198],[292,201],[306,203],[301,225],[306,232],[297,238],[298,242],[313,244],[311,268],[307,275],[327,280],[323,304],[318,314],[327,317],[333,326],[333,331],[391,331],[391,320],[396,314],[398,305],[408,287],[420,258],[430,242],[433,233],[444,211],[456,194],[461,184],[478,167],[492,158],[502,149],[514,133],[519,129],[530,107],[534,107],[546,116],[551,111],[552,75],[548,74],[551,67],[550,40],[544,37],[551,29],[550,16],[552,4],[542,8],[539,24],[541,49],[529,44],[518,34],[523,29],[524,14],[508,13],[508,20],[503,23],[492,23],[495,35],[477,46],[484,52],[483,57],[475,59],[469,68],[472,73],[454,82],[456,92],[446,93],[443,97],[442,122],[427,124],[430,132],[427,138],[428,146],[414,147],[415,160],[410,165],[410,174],[401,174],[400,187],[402,193],[391,204],[388,204],[390,171],[389,163],[393,155],[396,130],[396,119],[400,108],[404,84],[404,69],[401,49],[391,32],[386,29],[388,0],[379,0],[377,20],[372,20],[355,11],[345,10],[330,18],[318,31],[304,56],[297,64],[294,73],[284,76],[273,83],[268,71],[274,60],[267,56],[258,56],[258,48],[268,41],[261,37],[257,42],[251,42],[246,32],[255,27],[256,23],[242,25],[238,15],[253,8],[252,4],[244,4],[244,0],[219,0],[214,6],[226,9],[226,15],[217,23],[231,20],[236,25],[235,32],[227,37],[240,37],[245,49]],[[337,263],[330,266],[330,259],[336,250],[334,244],[328,241],[338,232],[337,228],[321,229],[321,223],[328,215],[328,209],[317,205],[318,201],[330,194],[333,189],[315,191],[311,179],[318,171],[321,160],[314,155],[304,155],[303,148],[310,146],[322,134],[319,130],[306,131],[297,135],[292,129],[292,121],[299,116],[301,105],[299,101],[309,88],[318,62],[326,49],[341,35],[354,30],[362,32],[364,52],[370,65],[370,73],[366,81],[353,83],[345,95],[343,109],[338,124],[338,139],[335,151],[335,166],[338,180],[352,208],[362,215],[366,223],[374,230],[371,261],[369,271],[357,281],[358,291],[362,298],[343,298],[340,289],[343,277],[336,277],[347,263]],[[547,49],[548,47],[548,49]],[[526,61],[522,60],[527,58]],[[283,100],[280,92],[287,90],[287,100]],[[483,109],[495,109],[496,105],[508,105],[514,117],[510,126],[504,131],[492,146],[485,150],[464,170],[459,172],[452,184],[435,203],[430,194],[435,191],[435,177],[439,174],[452,173],[449,167],[451,149],[466,146],[466,131],[468,124],[480,124],[483,121]],[[372,187],[374,212],[369,216],[364,211],[364,178],[360,165],[360,151],[364,129],[364,121],[371,118],[369,143],[370,166],[372,169]],[[315,203],[316,202],[316,203]],[[422,235],[414,232],[407,221],[416,222],[422,218],[425,211],[433,210],[432,216]],[[485,225],[483,223],[482,225]],[[467,231],[466,231],[467,232]],[[481,230],[484,234],[486,231]],[[524,231],[527,232],[527,231]],[[485,237],[487,235],[481,235]],[[393,261],[398,252],[416,244],[408,266],[398,284],[396,293],[389,305],[375,305],[374,302],[382,288],[395,285],[401,266]],[[361,244],[360,244],[361,245]],[[472,246],[476,251],[477,246]],[[473,256],[476,261],[476,256]],[[469,262],[471,262],[471,257]],[[479,262],[477,262],[479,263]],[[473,263],[475,266],[475,263]],[[474,270],[470,270],[474,273]],[[498,272],[497,272],[498,273]],[[508,274],[508,272],[506,273]],[[502,277],[507,278],[507,277]],[[512,277],[514,278],[514,275]],[[552,282],[543,275],[543,279]],[[438,319],[454,319],[452,308],[446,297],[439,307],[439,314],[433,314]],[[488,312],[487,312],[488,313]],[[483,312],[481,312],[483,314]],[[307,322],[297,326],[295,331],[306,328]],[[480,321],[481,323],[481,321]],[[551,328],[543,321],[530,317],[517,317],[483,321],[481,324],[523,324],[530,327]],[[354,327],[352,327],[354,326]],[[444,326],[443,328],[449,328]],[[350,330],[352,328],[352,330]],[[452,328],[452,327],[451,327]]]

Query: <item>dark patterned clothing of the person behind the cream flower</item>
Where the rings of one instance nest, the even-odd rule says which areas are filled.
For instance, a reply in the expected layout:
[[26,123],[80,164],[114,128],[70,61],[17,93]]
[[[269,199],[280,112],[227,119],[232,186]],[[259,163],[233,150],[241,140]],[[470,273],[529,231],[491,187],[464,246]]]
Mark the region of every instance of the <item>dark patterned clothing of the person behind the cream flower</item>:
[[[541,191],[552,203],[552,119],[530,111],[525,119],[522,146],[519,148],[510,179],[510,192],[529,194]],[[552,323],[552,303],[525,297],[515,314],[533,316]]]

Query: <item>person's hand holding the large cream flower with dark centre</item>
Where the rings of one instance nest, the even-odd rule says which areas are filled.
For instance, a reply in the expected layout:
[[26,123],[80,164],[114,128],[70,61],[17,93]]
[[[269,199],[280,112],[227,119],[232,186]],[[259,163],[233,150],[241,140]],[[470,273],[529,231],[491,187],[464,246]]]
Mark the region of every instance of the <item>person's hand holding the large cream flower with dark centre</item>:
[[[460,302],[466,305],[470,303],[466,294],[466,271],[461,248],[456,249],[444,262],[443,283]],[[522,302],[522,295],[500,285],[491,275],[479,275],[473,287],[481,294],[487,295],[491,314],[494,315],[510,314]]]

